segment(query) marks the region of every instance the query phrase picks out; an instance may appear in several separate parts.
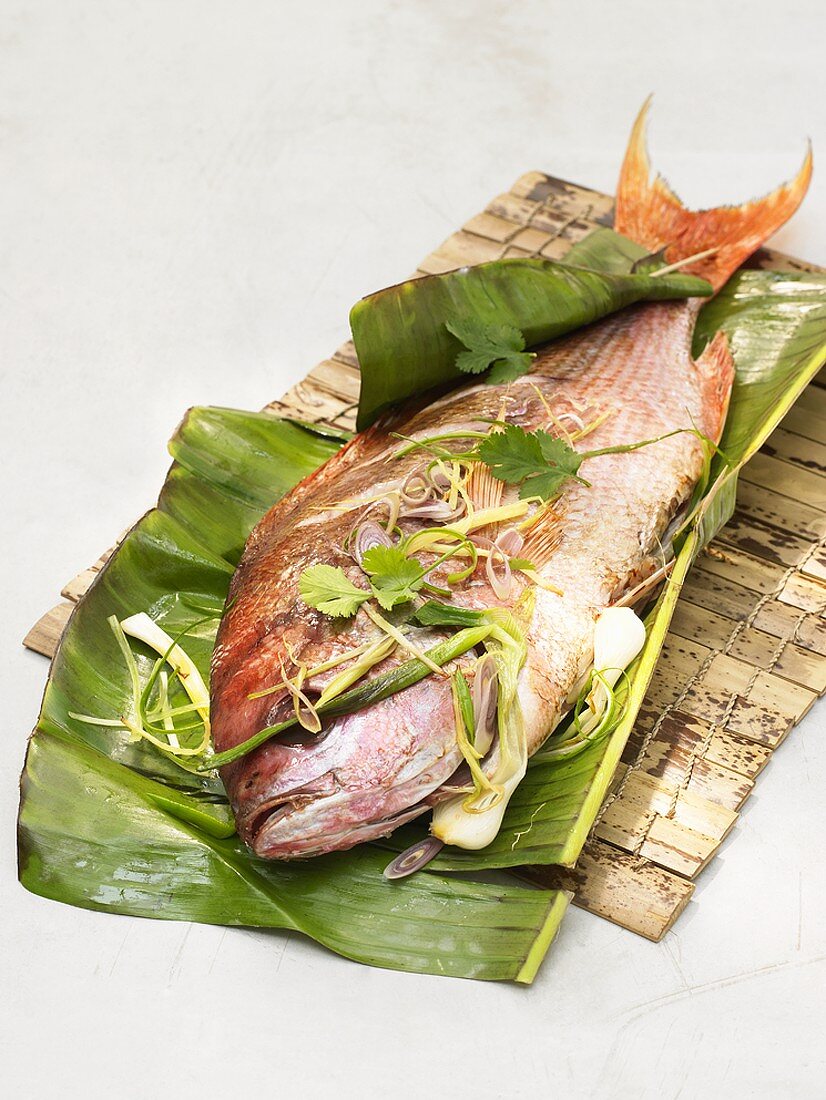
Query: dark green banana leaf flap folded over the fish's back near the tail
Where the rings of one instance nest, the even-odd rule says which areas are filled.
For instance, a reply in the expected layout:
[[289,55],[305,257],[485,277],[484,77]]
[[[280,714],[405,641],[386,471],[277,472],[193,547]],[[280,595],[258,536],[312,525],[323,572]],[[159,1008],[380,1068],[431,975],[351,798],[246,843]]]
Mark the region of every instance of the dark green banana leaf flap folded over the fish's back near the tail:
[[463,345],[447,328],[456,318],[508,324],[527,346],[546,343],[636,301],[712,293],[692,275],[634,272],[646,250],[610,229],[591,233],[551,260],[495,260],[386,287],[356,302],[350,327],[361,366],[357,427],[383,409],[467,375]]

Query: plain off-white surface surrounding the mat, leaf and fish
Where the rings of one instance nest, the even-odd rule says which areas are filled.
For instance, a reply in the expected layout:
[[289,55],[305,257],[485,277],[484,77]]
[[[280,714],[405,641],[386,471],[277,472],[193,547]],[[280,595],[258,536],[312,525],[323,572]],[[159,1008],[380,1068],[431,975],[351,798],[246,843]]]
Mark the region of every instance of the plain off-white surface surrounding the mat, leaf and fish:
[[[20,638],[152,503],[188,405],[280,394],[521,173],[613,189],[652,89],[686,201],[768,189],[826,153],[825,30],[819,0],[2,0],[7,1096],[823,1096],[822,707],[676,931],[573,910],[528,990],[43,901],[13,822]],[[778,239],[821,263],[824,179]]]

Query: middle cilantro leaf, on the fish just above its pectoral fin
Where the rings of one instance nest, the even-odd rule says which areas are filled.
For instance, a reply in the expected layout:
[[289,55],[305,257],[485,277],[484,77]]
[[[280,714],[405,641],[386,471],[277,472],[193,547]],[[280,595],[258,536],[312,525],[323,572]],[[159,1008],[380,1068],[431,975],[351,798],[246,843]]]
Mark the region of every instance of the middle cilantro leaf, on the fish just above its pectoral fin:
[[562,440],[539,428],[528,432],[509,424],[492,432],[478,446],[478,455],[494,477],[519,485],[519,496],[558,496],[569,477],[575,477],[582,455]]

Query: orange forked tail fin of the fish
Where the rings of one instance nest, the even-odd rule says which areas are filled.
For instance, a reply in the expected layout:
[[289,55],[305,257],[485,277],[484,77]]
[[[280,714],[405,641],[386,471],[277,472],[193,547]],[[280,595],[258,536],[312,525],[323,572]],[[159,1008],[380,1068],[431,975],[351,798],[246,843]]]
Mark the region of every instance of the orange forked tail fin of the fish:
[[764,198],[737,207],[687,210],[662,176],[651,179],[646,148],[649,103],[650,99],[634,123],[619,174],[615,229],[650,252],[665,248],[668,263],[714,249],[683,270],[708,279],[718,290],[801,205],[812,178],[812,150],[794,179]]

